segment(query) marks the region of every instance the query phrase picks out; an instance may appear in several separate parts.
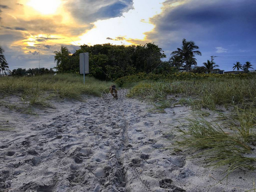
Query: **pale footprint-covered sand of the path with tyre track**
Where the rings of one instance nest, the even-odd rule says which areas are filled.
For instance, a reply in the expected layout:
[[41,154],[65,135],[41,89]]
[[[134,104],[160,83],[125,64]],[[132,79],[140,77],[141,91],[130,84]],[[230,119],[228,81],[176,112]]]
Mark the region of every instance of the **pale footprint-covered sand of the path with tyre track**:
[[[132,102],[131,102],[132,101]],[[39,117],[1,107],[0,191],[246,191],[256,174],[235,171],[226,180],[189,154],[162,149],[163,135],[190,115],[187,107],[149,113],[150,105],[120,98],[105,104],[56,102]],[[9,122],[7,122],[9,121]],[[215,185],[216,184],[216,185]]]

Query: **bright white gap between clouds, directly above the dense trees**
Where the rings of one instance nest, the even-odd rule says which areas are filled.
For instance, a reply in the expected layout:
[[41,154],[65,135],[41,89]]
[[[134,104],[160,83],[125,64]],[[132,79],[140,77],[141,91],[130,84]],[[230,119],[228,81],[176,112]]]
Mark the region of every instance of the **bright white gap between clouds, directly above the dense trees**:
[[146,37],[145,32],[154,29],[155,26],[150,23],[149,19],[161,13],[163,2],[164,0],[134,0],[134,9],[123,13],[121,17],[96,21],[93,23],[93,29],[80,36],[81,40],[75,43],[94,45],[105,42],[130,45],[132,44],[130,40],[143,40]]

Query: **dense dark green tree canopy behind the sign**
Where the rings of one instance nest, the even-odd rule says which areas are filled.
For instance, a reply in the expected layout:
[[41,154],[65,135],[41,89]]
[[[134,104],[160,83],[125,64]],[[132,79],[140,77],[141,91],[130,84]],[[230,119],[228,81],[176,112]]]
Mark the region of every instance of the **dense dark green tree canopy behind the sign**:
[[[58,72],[78,72],[79,54],[89,53],[90,74],[98,79],[115,80],[119,77],[132,75],[138,72],[155,71],[166,55],[154,43],[146,45],[82,45],[72,55],[65,47],[55,51],[56,69]],[[162,65],[163,67],[163,65]],[[170,65],[166,66],[170,68]],[[166,69],[168,71],[168,69]]]

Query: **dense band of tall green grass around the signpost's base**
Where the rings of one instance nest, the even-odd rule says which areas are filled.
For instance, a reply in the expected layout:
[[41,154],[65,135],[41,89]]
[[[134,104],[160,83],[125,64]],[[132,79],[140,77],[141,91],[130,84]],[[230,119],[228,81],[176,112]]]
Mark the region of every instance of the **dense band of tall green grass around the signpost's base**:
[[51,91],[61,98],[79,98],[82,94],[100,96],[109,87],[110,82],[97,80],[93,77],[85,78],[75,74],[42,75],[36,77],[8,77],[0,79],[0,93],[2,96],[10,94],[33,94]]

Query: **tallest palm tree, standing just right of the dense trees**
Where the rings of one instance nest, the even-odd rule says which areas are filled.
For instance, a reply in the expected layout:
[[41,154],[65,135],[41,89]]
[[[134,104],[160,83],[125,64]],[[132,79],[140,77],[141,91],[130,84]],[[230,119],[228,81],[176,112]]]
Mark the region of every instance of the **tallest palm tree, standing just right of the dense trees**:
[[[186,68],[186,71],[188,72],[188,70],[191,68],[189,67],[189,65],[191,65],[191,63],[196,64],[196,60],[194,56],[202,55],[202,53],[196,49],[199,49],[199,47],[195,45],[195,42],[186,41],[186,39],[183,39],[181,49],[177,48],[177,51],[173,51],[171,55],[176,55],[181,57],[182,60],[185,62],[185,68]],[[193,62],[189,63],[189,61],[193,61]]]

